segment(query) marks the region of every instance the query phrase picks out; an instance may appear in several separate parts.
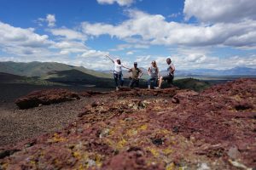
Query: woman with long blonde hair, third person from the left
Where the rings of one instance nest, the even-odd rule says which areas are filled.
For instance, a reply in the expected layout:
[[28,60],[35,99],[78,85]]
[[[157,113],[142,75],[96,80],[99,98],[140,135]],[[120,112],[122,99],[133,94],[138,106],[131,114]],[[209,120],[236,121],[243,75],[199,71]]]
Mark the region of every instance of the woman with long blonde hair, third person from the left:
[[156,65],[156,62],[153,60],[151,66],[148,68],[148,89],[150,89],[151,81],[154,81],[154,88],[157,87],[157,80],[159,78],[159,69]]

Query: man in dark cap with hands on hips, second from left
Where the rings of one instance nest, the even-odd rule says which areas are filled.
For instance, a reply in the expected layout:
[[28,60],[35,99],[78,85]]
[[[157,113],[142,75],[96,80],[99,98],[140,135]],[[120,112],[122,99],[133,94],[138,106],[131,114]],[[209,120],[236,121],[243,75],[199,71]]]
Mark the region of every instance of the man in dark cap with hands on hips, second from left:
[[134,67],[129,70],[131,72],[131,81],[129,84],[129,88],[133,88],[134,84],[138,88],[139,87],[139,79],[143,76],[143,71],[137,68],[137,62],[134,62]]

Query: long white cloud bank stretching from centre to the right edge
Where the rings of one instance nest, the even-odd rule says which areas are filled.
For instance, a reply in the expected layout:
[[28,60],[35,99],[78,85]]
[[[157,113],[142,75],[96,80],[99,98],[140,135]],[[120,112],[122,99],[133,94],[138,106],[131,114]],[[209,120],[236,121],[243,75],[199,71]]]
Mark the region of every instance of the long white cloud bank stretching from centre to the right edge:
[[85,34],[95,37],[109,35],[130,43],[140,42],[143,45],[256,47],[256,20],[208,26],[167,22],[160,14],[146,14],[137,10],[130,10],[129,16],[129,20],[116,26],[84,22],[82,29]]

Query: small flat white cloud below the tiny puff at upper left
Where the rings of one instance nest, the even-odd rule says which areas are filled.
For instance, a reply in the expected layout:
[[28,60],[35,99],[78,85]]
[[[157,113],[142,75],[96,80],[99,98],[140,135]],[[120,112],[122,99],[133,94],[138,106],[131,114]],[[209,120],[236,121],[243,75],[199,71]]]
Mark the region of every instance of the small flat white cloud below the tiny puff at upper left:
[[86,35],[82,34],[79,31],[74,31],[67,28],[56,28],[49,30],[54,36],[65,37],[68,40],[86,40]]

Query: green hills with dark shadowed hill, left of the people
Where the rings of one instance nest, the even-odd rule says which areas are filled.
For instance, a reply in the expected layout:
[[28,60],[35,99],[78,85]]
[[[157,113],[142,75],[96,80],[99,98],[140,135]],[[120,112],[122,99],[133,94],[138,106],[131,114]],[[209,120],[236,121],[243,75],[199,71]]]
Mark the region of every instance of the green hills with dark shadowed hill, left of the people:
[[0,82],[113,87],[110,74],[55,62],[0,62]]

